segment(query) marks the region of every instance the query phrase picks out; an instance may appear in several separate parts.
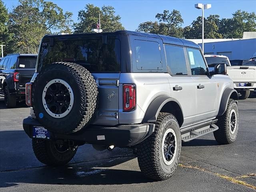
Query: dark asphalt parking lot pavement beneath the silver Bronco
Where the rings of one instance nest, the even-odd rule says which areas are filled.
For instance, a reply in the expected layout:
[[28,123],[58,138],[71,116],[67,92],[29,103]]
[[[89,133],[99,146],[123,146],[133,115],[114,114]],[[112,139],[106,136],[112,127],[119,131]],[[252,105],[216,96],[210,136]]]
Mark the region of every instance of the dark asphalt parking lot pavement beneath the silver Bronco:
[[233,144],[218,145],[212,133],[182,143],[175,174],[155,182],[140,173],[129,149],[98,152],[84,145],[67,166],[44,166],[22,129],[30,109],[25,104],[7,109],[0,98],[0,191],[255,191],[256,95],[239,100],[238,108],[240,125]]

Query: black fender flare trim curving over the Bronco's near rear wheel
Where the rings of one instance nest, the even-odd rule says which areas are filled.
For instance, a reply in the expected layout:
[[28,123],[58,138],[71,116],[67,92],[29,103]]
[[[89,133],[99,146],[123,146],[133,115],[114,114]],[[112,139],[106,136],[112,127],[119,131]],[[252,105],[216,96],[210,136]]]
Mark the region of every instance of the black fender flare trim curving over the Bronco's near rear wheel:
[[152,100],[152,102],[148,106],[148,109],[146,110],[146,113],[144,115],[142,122],[156,122],[156,119],[158,117],[160,110],[166,103],[170,101],[174,101],[180,106],[182,117],[183,117],[183,111],[182,111],[181,105],[176,99],[168,97],[166,95],[160,95],[154,98],[154,100]]

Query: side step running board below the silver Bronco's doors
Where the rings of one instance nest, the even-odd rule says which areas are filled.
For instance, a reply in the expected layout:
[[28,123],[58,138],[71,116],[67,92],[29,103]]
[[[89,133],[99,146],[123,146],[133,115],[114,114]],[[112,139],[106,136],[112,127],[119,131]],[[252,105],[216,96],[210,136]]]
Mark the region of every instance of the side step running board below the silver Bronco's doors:
[[193,126],[189,128],[184,128],[181,130],[181,139],[184,142],[193,140],[195,138],[198,138],[202,135],[208,134],[210,132],[214,132],[219,129],[219,127],[215,124],[218,120],[212,120],[209,122],[205,122],[202,124],[199,124],[198,126]]

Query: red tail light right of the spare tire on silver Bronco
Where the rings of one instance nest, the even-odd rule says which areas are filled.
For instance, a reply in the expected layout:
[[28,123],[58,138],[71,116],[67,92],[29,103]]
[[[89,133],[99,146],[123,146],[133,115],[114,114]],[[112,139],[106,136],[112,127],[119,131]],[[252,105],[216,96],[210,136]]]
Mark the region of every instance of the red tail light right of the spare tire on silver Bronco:
[[123,85],[123,111],[130,112],[136,108],[136,87],[133,84]]

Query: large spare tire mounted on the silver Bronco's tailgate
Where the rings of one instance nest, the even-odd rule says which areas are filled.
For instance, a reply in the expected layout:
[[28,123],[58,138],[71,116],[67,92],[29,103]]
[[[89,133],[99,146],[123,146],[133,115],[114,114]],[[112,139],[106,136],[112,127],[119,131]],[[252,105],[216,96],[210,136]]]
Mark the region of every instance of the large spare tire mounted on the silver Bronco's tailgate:
[[[49,112],[50,107],[44,103],[46,98],[42,98],[43,92],[48,91],[46,85],[53,80],[57,80],[57,84],[58,80],[66,83],[72,90],[70,98],[71,94],[74,98],[72,108],[70,103],[68,104],[70,109],[66,109],[69,110],[68,114],[60,118],[58,118],[60,115],[57,114],[55,117],[56,114],[53,116]],[[70,62],[56,62],[50,64],[36,77],[32,90],[32,106],[36,118],[46,129],[68,134],[77,132],[89,124],[96,111],[97,96],[97,84],[86,68]]]

